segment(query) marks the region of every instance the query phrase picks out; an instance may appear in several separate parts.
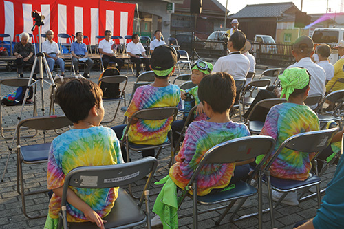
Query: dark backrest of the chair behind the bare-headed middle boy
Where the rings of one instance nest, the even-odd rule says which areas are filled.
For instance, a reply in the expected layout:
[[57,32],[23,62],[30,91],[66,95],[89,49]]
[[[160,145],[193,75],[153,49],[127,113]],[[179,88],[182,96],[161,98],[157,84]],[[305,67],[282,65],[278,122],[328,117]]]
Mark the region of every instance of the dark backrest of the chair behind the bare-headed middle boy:
[[[191,176],[190,184],[202,170],[204,164],[212,163],[235,163],[250,160],[259,155],[269,156],[275,147],[275,139],[270,136],[255,135],[242,138],[235,138],[227,142],[223,142],[209,149]],[[259,145],[259,147],[257,147]],[[264,157],[264,162],[268,157]],[[262,164],[263,162],[260,162]]]

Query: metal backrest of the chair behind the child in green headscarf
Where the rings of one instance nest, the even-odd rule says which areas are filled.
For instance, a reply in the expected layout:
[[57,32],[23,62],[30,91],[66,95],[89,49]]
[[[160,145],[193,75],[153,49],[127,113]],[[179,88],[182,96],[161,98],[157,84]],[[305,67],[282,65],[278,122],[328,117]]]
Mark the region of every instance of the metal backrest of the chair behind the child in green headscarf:
[[[279,153],[284,148],[292,151],[304,153],[319,153],[325,149],[330,143],[333,136],[337,133],[338,128],[325,129],[321,131],[309,131],[298,133],[285,140],[277,149],[271,160],[266,164],[266,170],[272,165]],[[316,158],[316,156],[314,157]]]

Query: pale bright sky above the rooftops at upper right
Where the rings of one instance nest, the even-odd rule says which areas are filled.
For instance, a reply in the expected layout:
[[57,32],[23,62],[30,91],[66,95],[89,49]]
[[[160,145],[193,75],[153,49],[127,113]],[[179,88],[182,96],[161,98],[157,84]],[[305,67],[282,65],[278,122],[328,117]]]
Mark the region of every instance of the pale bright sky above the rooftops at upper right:
[[[226,7],[227,0],[217,0],[224,7]],[[246,5],[254,4],[264,4],[264,3],[277,3],[277,2],[290,2],[291,0],[228,0],[228,10],[230,14],[236,13]],[[344,0],[327,0],[328,7],[331,8],[331,12],[343,12]],[[326,12],[326,0],[303,0],[302,12],[307,12],[308,14],[325,14]],[[301,10],[301,0],[292,1],[299,10]]]

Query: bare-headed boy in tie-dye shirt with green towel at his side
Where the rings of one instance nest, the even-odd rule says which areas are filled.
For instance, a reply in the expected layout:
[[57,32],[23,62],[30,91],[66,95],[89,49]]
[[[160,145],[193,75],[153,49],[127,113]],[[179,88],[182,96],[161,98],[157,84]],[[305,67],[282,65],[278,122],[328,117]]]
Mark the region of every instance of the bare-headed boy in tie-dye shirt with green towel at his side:
[[[198,162],[208,149],[222,142],[250,135],[244,124],[229,119],[235,90],[233,77],[226,72],[209,74],[202,79],[198,96],[210,119],[189,125],[182,147],[175,156],[176,163],[170,168],[169,176],[180,188],[188,184]],[[247,164],[249,162],[204,165],[202,173],[197,177],[197,195],[206,195],[214,189],[216,192],[228,184],[235,184],[239,179],[245,179],[250,170]]]

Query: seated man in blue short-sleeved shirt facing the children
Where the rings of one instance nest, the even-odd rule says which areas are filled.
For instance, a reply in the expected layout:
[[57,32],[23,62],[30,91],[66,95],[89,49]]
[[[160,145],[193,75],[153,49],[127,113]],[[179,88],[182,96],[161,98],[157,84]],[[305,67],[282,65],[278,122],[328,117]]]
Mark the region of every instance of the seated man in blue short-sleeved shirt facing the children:
[[87,46],[83,43],[84,35],[82,32],[77,32],[75,34],[76,41],[74,41],[71,45],[71,53],[72,53],[72,61],[74,69],[76,70],[76,74],[79,74],[79,63],[80,59],[87,59],[85,61],[86,69],[83,74],[85,78],[89,78],[89,71],[91,71],[94,62],[88,58],[88,51]]

